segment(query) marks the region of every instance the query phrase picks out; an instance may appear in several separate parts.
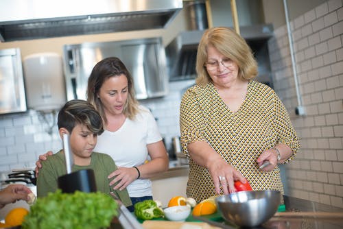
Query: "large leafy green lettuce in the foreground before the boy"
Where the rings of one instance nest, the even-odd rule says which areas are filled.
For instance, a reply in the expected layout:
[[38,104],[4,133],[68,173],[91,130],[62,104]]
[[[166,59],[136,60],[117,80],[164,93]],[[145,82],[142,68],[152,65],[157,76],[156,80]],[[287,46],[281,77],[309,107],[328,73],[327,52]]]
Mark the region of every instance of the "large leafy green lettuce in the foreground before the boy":
[[31,206],[21,228],[108,228],[118,204],[106,193],[49,193]]

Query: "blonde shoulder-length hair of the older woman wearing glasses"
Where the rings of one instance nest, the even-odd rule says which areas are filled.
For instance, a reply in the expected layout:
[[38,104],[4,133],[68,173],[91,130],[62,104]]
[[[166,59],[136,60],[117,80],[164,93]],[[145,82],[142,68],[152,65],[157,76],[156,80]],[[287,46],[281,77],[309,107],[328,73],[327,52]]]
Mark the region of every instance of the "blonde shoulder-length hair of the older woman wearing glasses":
[[246,40],[228,27],[213,27],[206,29],[198,46],[196,56],[196,84],[204,86],[212,82],[204,66],[207,61],[207,47],[212,45],[217,51],[233,60],[239,67],[238,77],[250,80],[257,76],[257,62]]

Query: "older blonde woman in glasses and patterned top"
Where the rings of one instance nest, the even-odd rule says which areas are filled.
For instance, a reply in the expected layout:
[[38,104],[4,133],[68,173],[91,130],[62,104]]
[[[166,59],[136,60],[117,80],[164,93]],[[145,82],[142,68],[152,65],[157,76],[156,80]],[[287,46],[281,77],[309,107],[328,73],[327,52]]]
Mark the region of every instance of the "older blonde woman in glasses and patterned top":
[[207,29],[196,71],[196,85],[180,106],[182,150],[190,159],[187,196],[200,202],[233,193],[235,180],[283,193],[278,164],[294,158],[299,140],[276,93],[252,80],[257,62],[244,38],[227,27]]

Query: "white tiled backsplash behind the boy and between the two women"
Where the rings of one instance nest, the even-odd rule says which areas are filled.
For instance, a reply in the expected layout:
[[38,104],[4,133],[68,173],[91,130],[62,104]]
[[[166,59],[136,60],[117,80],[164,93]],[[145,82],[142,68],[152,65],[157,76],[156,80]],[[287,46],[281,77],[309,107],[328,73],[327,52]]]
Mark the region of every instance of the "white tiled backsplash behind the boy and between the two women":
[[[179,106],[185,88],[193,80],[169,83],[165,97],[142,100],[157,120],[167,149],[171,150],[171,138],[180,134]],[[0,116],[0,171],[22,167],[35,167],[40,154],[62,148],[56,125],[57,114],[41,114],[36,110]],[[51,132],[51,134],[48,134]]]

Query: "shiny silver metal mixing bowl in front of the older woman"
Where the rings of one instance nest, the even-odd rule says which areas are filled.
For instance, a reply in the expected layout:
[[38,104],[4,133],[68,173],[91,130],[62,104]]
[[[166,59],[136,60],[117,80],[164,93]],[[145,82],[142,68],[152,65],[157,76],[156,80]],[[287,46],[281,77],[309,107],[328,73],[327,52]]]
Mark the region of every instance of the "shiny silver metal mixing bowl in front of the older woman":
[[222,217],[238,226],[258,226],[268,221],[278,210],[279,191],[240,191],[215,198]]

